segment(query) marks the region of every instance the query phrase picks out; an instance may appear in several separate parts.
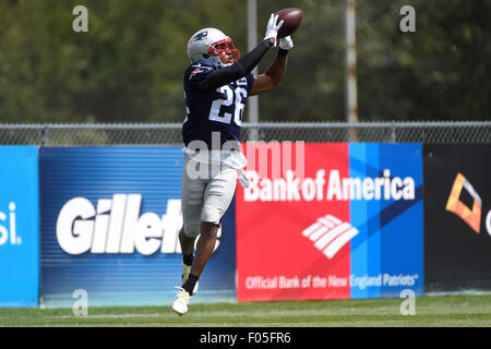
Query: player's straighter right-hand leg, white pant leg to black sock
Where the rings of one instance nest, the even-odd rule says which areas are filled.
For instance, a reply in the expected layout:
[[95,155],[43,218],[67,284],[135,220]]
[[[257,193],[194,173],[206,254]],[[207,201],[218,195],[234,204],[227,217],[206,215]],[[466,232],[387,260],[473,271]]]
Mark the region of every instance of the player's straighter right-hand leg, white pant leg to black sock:
[[221,217],[233,197],[237,186],[237,170],[225,167],[206,185],[201,214],[201,234],[191,273],[182,288],[191,290],[197,282],[215,249]]

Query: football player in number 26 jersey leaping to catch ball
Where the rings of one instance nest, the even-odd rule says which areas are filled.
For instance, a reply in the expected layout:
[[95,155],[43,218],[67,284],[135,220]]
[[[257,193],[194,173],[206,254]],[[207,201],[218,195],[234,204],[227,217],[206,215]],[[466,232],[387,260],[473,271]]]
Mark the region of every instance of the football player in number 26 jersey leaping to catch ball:
[[[247,160],[239,143],[242,112],[248,96],[274,89],[282,81],[288,51],[294,47],[289,36],[277,39],[282,25],[283,21],[272,14],[263,41],[243,57],[232,39],[216,28],[201,29],[188,41],[191,64],[184,73],[188,116],[182,125],[185,155],[183,226],[179,232],[182,286],[171,306],[179,315],[188,312],[190,297],[197,291],[197,280],[214,251],[238,176],[241,184],[248,185],[242,171]],[[271,67],[253,76],[251,71],[277,41],[279,49]]]

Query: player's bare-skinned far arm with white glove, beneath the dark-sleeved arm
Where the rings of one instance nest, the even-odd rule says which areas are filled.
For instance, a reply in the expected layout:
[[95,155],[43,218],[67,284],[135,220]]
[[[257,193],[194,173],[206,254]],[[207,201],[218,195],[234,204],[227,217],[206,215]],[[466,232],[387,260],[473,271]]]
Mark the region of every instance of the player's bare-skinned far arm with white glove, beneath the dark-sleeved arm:
[[264,74],[254,77],[249,96],[260,95],[278,87],[288,62],[288,51],[294,48],[291,37],[279,39],[279,50],[276,59]]

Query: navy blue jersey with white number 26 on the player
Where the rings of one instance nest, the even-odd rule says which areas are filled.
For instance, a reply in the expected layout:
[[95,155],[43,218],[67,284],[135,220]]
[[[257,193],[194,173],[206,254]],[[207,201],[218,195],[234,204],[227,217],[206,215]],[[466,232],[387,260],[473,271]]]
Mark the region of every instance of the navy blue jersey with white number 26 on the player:
[[[212,132],[219,132],[220,146],[227,141],[240,140],[242,112],[253,75],[249,73],[228,85],[206,91],[204,83],[218,70],[214,62],[200,59],[184,73],[184,95],[188,117],[182,124],[185,146],[192,141],[203,141],[212,148]],[[216,146],[216,145],[215,145]]]

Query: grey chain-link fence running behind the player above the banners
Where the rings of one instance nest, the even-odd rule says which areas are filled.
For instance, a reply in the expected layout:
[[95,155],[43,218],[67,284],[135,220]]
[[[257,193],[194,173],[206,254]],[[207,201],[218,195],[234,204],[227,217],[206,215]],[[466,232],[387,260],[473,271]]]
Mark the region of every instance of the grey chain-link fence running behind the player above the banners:
[[[243,123],[241,140],[491,143],[491,121]],[[182,136],[180,123],[0,124],[0,144],[40,146],[182,145]]]

